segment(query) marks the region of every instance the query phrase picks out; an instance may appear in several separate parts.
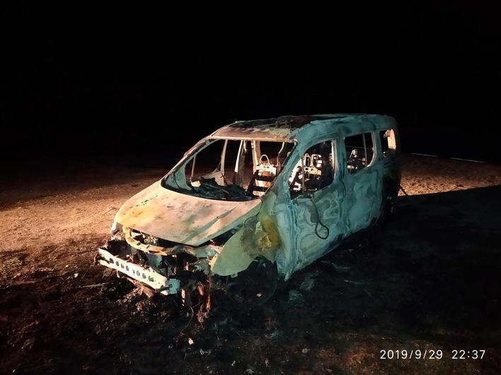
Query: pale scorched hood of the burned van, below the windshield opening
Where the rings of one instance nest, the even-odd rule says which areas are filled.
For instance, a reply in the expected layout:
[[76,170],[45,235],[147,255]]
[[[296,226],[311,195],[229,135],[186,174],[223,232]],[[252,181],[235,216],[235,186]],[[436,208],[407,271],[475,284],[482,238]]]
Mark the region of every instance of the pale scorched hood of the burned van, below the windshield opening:
[[129,198],[115,215],[125,227],[180,244],[198,246],[258,213],[261,200],[216,201],[151,186]]

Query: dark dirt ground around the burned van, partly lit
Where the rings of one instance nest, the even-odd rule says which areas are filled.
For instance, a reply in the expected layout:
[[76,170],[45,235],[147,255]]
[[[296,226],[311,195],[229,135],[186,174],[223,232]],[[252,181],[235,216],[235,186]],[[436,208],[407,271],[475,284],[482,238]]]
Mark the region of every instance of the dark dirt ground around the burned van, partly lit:
[[264,306],[216,294],[204,326],[93,265],[117,208],[163,172],[84,163],[2,182],[0,373],[500,373],[500,166],[403,157],[409,196],[388,227],[294,274]]

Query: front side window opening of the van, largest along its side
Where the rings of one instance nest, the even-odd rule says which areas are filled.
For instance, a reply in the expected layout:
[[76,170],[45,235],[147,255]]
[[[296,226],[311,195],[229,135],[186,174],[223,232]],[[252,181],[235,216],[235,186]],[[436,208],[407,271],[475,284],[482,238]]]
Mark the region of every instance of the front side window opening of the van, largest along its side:
[[289,176],[292,198],[301,192],[313,192],[330,185],[335,174],[334,143],[323,141],[313,145],[296,162]]

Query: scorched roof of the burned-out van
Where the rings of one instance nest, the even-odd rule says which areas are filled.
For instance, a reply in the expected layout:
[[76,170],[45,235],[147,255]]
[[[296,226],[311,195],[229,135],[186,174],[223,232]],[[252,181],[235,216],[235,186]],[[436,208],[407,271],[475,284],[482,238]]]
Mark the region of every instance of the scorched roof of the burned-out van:
[[211,138],[264,141],[304,141],[315,136],[395,127],[395,119],[381,114],[313,114],[272,119],[235,121],[211,134]]

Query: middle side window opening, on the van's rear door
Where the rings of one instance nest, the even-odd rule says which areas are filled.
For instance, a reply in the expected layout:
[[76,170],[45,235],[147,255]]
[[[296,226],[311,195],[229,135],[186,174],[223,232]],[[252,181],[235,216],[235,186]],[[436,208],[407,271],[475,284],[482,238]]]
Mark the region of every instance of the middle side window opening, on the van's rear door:
[[372,133],[360,133],[345,138],[346,162],[350,174],[355,174],[372,163],[374,142]]

